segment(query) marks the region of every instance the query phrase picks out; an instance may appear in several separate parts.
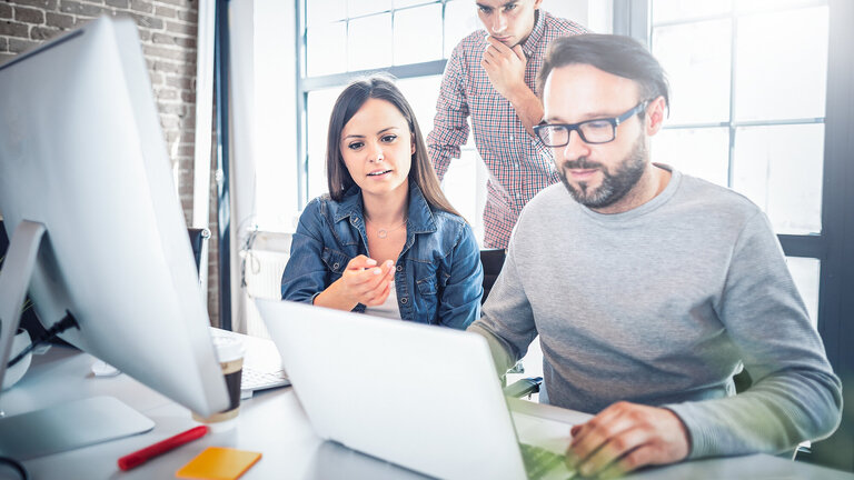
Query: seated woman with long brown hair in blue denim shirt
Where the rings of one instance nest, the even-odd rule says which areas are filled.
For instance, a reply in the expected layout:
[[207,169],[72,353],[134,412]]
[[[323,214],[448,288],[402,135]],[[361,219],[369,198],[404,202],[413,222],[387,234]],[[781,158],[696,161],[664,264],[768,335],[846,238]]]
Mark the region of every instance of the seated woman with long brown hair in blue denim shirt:
[[338,97],[326,168],[329,193],[299,219],[282,299],[457,329],[480,316],[474,233],[391,80],[357,80]]

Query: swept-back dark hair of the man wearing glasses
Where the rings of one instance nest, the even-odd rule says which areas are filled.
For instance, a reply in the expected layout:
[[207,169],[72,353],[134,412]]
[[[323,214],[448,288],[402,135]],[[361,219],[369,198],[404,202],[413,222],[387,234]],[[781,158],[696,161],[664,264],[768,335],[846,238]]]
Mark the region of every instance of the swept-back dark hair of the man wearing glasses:
[[665,104],[671,104],[669,87],[662,64],[646,47],[630,37],[588,33],[553,40],[537,74],[540,97],[552,70],[568,64],[589,64],[634,80],[640,87],[642,100],[664,97]]

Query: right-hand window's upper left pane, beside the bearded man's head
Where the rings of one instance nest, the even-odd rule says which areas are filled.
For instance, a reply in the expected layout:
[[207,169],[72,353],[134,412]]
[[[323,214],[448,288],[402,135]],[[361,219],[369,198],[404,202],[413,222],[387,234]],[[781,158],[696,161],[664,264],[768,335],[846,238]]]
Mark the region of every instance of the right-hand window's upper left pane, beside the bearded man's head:
[[671,121],[728,121],[731,24],[714,20],[653,31],[653,53],[671,82]]

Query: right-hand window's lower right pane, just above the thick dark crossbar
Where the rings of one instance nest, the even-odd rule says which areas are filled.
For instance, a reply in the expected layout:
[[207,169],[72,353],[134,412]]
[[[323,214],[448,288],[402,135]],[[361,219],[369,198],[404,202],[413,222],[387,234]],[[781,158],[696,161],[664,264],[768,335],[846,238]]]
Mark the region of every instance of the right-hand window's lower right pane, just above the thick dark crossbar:
[[743,127],[733,188],[759,206],[777,233],[822,230],[824,124]]

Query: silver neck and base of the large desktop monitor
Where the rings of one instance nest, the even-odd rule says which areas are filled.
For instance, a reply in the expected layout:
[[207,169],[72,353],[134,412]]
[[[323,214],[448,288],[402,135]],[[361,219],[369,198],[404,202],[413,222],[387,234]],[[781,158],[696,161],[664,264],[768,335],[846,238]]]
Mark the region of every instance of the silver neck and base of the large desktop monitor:
[[[0,384],[44,232],[42,223],[21,221],[11,236],[0,270]],[[153,421],[118,399],[88,398],[0,419],[0,456],[27,460],[152,428]]]

